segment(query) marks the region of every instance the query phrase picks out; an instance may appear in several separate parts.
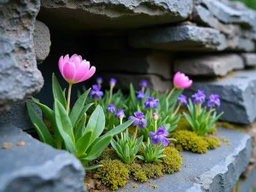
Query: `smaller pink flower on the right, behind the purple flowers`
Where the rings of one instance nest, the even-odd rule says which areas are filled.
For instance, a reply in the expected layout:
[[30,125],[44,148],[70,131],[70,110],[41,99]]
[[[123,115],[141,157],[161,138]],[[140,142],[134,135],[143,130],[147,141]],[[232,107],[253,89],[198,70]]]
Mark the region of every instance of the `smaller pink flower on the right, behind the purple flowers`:
[[177,72],[173,77],[174,87],[180,90],[187,89],[192,85],[193,81],[184,73]]

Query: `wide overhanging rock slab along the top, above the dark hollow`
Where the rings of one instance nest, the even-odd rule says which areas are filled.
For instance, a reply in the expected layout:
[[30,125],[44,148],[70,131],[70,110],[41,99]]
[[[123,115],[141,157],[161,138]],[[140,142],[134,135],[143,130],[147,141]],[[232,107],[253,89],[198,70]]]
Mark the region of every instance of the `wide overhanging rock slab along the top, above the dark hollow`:
[[192,0],[43,0],[41,3],[39,20],[50,28],[78,31],[177,22],[187,19],[193,7]]

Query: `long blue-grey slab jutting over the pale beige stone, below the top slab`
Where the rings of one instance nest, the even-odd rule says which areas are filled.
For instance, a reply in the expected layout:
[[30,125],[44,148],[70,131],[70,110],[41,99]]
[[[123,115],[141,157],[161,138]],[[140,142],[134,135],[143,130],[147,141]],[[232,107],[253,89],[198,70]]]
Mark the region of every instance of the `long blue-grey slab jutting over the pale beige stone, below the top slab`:
[[225,37],[216,29],[199,26],[171,26],[143,29],[131,33],[129,42],[134,48],[166,50],[223,50]]

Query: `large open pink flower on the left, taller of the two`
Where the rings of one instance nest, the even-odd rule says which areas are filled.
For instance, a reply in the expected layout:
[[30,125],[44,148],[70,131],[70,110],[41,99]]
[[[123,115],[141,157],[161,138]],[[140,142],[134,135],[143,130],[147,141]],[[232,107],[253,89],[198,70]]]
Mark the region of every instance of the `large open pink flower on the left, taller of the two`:
[[69,55],[60,57],[59,69],[61,75],[69,84],[77,84],[79,82],[90,79],[96,72],[96,67],[90,67],[90,62],[83,60],[81,55]]

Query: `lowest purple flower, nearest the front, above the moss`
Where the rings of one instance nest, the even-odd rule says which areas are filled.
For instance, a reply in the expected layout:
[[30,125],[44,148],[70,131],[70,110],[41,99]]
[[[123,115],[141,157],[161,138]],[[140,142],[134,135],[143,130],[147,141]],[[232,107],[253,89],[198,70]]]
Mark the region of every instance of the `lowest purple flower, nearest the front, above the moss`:
[[166,131],[165,126],[160,126],[155,133],[150,131],[148,135],[152,137],[152,144],[154,145],[160,142],[166,147],[169,144],[169,140],[166,138],[169,135],[169,132]]

